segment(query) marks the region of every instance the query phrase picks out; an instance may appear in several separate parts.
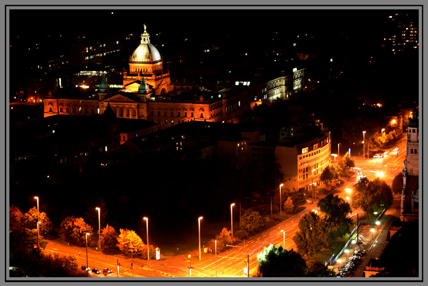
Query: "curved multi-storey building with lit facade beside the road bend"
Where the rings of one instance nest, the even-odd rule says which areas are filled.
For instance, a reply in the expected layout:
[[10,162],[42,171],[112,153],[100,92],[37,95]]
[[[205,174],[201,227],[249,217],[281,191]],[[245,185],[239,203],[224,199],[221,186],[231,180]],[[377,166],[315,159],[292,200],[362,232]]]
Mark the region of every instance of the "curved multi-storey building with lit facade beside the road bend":
[[276,146],[275,157],[284,173],[284,188],[307,191],[312,182],[318,185],[321,172],[330,164],[330,155],[330,132],[300,144]]

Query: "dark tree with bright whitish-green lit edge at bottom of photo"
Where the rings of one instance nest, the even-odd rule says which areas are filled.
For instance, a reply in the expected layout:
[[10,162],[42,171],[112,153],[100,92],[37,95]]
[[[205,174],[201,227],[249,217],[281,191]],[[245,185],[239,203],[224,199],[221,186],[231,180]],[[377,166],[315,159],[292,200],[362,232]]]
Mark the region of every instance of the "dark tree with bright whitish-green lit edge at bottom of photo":
[[273,244],[257,253],[257,277],[304,277],[306,263],[302,256]]

